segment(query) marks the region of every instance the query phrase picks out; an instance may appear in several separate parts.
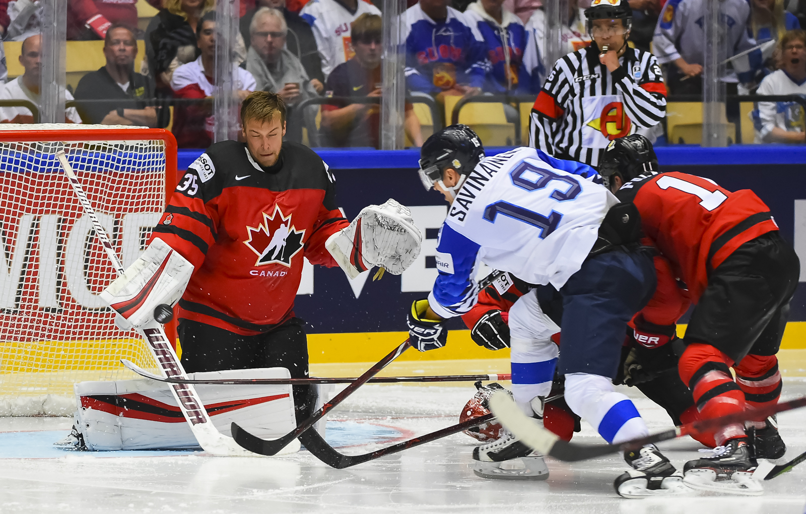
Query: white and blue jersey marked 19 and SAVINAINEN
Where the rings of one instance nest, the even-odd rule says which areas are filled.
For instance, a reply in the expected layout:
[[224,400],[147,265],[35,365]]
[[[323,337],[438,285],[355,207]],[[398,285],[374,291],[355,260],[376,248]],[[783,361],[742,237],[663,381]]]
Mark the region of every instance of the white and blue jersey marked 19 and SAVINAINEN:
[[593,168],[520,147],[482,160],[442,224],[434,313],[455,317],[476,303],[479,261],[530,284],[562,288],[580,270],[605,214],[618,200]]

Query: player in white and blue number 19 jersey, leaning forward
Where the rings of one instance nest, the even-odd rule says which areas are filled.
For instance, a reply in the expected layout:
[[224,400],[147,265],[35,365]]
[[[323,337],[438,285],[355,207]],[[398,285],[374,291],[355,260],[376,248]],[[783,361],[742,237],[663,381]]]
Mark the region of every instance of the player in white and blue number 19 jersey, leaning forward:
[[[529,147],[484,159],[478,136],[463,125],[449,126],[423,144],[423,184],[441,192],[451,208],[439,233],[437,280],[428,298],[412,305],[409,338],[420,351],[445,345],[444,320],[466,313],[476,302],[472,277],[480,262],[532,284],[552,284],[563,298],[563,351],[558,355],[554,342],[537,334],[559,330],[550,320],[532,326],[535,334],[522,339],[522,348],[513,344],[513,354],[532,357],[528,366],[518,364],[534,379],[533,396],[518,397],[525,391],[516,390],[515,400],[542,418],[558,367],[571,410],[606,441],[618,443],[648,433],[632,401],[613,391],[611,379],[627,322],[646,305],[656,279],[650,254],[638,244],[638,210],[581,176],[580,166],[588,169],[586,176],[596,176],[584,164]],[[540,309],[537,301],[528,305],[534,309]],[[517,309],[511,316],[517,317]],[[528,459],[526,469],[501,469],[501,462],[513,458]],[[540,468],[534,458],[509,433],[473,451],[474,471],[485,478],[546,478],[545,466]],[[625,454],[625,460],[637,475],[622,475],[623,482],[638,476],[660,490],[664,479],[675,475],[654,446]],[[654,481],[646,480],[648,475]],[[679,479],[675,475],[671,482]]]

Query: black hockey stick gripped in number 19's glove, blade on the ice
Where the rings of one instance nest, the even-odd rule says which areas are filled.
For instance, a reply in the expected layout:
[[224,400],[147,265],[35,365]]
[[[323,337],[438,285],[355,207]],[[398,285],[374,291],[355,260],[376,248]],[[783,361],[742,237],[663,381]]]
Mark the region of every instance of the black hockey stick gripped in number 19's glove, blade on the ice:
[[350,396],[356,389],[360,388],[364,383],[367,383],[369,379],[375,376],[380,370],[387,367],[388,363],[391,363],[394,359],[400,357],[400,355],[409,349],[411,346],[411,342],[409,339],[406,339],[404,342],[401,343],[400,346],[397,346],[394,350],[392,350],[388,355],[386,355],[383,359],[380,359],[378,363],[374,364],[370,367],[367,371],[364,371],[364,375],[359,376],[358,379],[355,379],[347,388],[344,388],[342,392],[339,392],[338,395],[334,396],[332,400],[326,402],[322,405],[322,408],[319,408],[317,412],[314,412],[314,415],[302,421],[302,423],[297,426],[296,429],[293,429],[291,432],[285,434],[285,436],[280,437],[279,439],[272,439],[272,440],[265,440],[248,433],[246,430],[242,429],[238,426],[237,423],[232,424],[232,437],[235,439],[240,446],[246,448],[247,450],[254,452],[256,454],[261,455],[274,455],[278,451],[282,450],[286,445],[288,445],[291,441],[300,437],[305,430],[310,429],[311,426],[314,425],[317,421],[322,419],[327,412],[330,412],[330,409],[334,408],[336,405],[340,404]]

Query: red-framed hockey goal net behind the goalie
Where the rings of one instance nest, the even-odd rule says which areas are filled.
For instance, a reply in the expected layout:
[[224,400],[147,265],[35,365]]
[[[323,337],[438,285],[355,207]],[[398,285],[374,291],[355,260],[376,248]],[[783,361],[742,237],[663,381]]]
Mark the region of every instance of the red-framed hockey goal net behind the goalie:
[[56,152],[64,150],[123,265],[164,211],[177,174],[168,131],[103,125],[0,126],[0,416],[64,415],[73,383],[156,370],[98,297],[116,273]]

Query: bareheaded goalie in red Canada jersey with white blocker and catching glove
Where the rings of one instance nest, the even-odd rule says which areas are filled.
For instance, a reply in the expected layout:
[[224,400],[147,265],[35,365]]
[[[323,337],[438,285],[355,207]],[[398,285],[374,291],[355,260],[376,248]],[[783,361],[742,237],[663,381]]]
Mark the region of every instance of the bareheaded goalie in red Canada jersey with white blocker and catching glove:
[[[344,218],[327,164],[283,141],[280,96],[251,93],[241,119],[246,143],[215,143],[190,164],[143,257],[105,294],[122,328],[178,301],[187,372],[285,367],[304,378],[307,339],[293,309],[303,257],[349,276],[372,266],[400,274],[422,238],[393,200]],[[295,386],[294,400],[304,419],[309,389]]]

